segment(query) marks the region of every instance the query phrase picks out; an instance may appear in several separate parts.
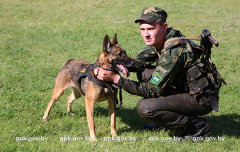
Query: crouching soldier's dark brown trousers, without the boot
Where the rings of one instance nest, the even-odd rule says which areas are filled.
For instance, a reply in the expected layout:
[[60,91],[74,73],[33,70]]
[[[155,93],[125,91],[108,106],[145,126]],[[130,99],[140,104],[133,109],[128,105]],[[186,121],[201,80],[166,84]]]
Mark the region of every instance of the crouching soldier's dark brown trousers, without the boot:
[[[150,71],[146,71],[147,75]],[[142,76],[144,77],[144,72]],[[138,78],[141,78],[141,75],[138,75]],[[170,130],[178,130],[189,124],[191,116],[208,114],[212,107],[207,93],[192,96],[169,86],[158,98],[141,99],[137,103],[137,111],[148,121]]]

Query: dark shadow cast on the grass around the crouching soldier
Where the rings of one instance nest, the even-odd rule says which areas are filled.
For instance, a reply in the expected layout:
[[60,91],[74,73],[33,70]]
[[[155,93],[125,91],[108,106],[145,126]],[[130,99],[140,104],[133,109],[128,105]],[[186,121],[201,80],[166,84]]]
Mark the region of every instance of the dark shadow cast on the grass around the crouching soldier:
[[[108,109],[97,107],[95,111],[98,111],[101,115],[109,117]],[[123,127],[118,129],[118,133],[130,132],[142,130],[145,124],[151,124],[141,118],[138,115],[137,109],[125,109],[121,108],[117,111],[117,117],[120,117],[121,122],[125,123],[129,127]],[[226,114],[220,116],[203,116],[207,119],[212,127],[212,134],[210,136],[232,136],[240,137],[240,115],[238,114]]]

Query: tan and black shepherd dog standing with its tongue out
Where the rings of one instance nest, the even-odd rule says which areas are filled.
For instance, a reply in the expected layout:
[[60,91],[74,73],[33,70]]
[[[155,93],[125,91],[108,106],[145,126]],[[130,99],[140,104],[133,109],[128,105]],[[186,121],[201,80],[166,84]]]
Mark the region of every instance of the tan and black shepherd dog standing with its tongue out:
[[[108,35],[106,35],[103,41],[103,51],[92,69],[92,74],[93,76],[96,76],[98,68],[105,68],[104,66],[107,65],[111,69],[128,77],[129,72],[127,67],[131,67],[133,64],[133,59],[128,57],[126,51],[118,44],[117,34],[115,34],[112,42],[110,42]],[[89,65],[90,63],[83,60],[71,59],[63,66],[61,71],[58,73],[58,76],[55,78],[55,87],[52,92],[52,97],[42,119],[43,121],[47,120],[52,105],[59,99],[66,89],[72,88],[72,93],[67,98],[67,112],[72,114],[71,106],[73,102],[81,96],[85,97],[85,107],[91,141],[97,141],[93,116],[94,104],[105,100],[108,100],[109,105],[108,109],[111,119],[111,134],[113,137],[117,137],[116,109],[114,109],[114,101],[110,96],[109,89],[95,84],[90,81],[88,77],[82,78],[81,82],[77,81],[79,71]],[[118,89],[113,88],[112,90],[114,96],[117,97]]]

